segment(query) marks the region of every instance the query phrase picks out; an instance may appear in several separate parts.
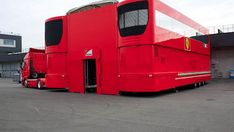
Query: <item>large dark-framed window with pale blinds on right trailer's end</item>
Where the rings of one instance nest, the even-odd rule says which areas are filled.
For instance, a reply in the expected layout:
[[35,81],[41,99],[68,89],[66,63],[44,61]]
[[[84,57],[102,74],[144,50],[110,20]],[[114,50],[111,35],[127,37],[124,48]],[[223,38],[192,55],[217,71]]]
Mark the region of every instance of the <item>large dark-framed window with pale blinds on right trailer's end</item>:
[[122,37],[140,35],[148,23],[148,2],[133,2],[118,7],[118,25]]

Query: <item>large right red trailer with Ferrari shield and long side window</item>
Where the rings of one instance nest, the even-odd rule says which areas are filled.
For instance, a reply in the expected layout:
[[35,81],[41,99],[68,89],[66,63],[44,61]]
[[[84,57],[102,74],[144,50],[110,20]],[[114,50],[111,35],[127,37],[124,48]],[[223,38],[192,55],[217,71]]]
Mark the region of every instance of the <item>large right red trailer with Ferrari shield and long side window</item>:
[[126,0],[118,5],[118,24],[119,91],[157,92],[210,80],[209,32],[192,19],[159,0]]

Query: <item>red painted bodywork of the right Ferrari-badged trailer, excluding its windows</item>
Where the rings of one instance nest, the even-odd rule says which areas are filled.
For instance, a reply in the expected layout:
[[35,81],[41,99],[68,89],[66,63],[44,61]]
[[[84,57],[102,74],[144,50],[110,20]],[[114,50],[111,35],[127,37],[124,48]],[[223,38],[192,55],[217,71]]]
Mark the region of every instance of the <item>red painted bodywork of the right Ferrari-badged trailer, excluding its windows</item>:
[[[129,2],[133,0],[120,5]],[[149,22],[145,33],[131,37],[119,35],[119,90],[157,92],[209,80],[210,73],[187,78],[178,77],[178,74],[210,71],[210,44],[204,48],[200,41],[190,39],[191,47],[185,50],[185,37],[178,37],[155,24],[155,10],[200,29],[204,34],[208,34],[208,30],[161,1],[148,2]]]

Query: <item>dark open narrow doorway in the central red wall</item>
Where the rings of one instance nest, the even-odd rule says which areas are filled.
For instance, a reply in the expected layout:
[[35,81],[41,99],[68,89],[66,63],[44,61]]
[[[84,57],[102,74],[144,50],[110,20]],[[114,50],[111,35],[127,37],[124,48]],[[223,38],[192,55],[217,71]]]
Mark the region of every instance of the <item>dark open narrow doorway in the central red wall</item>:
[[96,59],[84,60],[84,84],[86,93],[96,93],[97,91],[97,73]]

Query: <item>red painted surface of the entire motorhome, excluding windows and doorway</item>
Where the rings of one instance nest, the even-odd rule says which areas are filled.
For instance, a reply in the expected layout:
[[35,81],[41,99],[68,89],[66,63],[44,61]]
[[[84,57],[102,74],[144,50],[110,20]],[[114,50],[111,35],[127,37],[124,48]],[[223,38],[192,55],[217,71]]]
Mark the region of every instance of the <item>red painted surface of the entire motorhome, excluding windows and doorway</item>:
[[[158,0],[148,0],[149,20],[144,34],[120,36],[117,6],[136,1],[48,19],[63,19],[64,33],[58,46],[46,47],[47,87],[84,93],[86,59],[96,59],[98,94],[155,92],[209,80],[210,74],[178,75],[210,71],[210,44],[204,48],[203,43],[190,39],[191,47],[185,50],[185,37],[155,24],[155,10],[205,34],[208,30]],[[92,56],[85,55],[88,50],[93,50]]]

